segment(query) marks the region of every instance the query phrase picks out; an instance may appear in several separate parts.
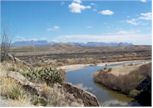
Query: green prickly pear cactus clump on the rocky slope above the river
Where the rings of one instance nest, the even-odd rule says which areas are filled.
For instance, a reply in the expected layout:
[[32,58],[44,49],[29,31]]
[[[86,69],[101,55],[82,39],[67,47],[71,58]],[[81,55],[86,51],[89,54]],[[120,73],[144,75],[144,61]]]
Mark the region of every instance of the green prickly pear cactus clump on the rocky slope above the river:
[[64,80],[64,72],[49,68],[41,68],[30,70],[30,72],[24,74],[29,80],[46,82],[47,85],[54,83],[61,83]]

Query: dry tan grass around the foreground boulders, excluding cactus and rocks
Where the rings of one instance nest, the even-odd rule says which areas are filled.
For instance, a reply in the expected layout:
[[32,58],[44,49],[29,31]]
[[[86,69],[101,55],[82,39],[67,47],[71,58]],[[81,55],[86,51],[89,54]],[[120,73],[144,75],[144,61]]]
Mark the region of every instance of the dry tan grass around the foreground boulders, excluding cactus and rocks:
[[[16,71],[21,74],[30,72],[22,64],[4,62],[0,64],[0,95],[7,106],[83,106],[82,100],[66,93],[58,83],[53,86],[42,84],[41,95],[36,96],[26,91],[16,80],[7,77],[7,72]],[[0,97],[1,97],[0,96]]]

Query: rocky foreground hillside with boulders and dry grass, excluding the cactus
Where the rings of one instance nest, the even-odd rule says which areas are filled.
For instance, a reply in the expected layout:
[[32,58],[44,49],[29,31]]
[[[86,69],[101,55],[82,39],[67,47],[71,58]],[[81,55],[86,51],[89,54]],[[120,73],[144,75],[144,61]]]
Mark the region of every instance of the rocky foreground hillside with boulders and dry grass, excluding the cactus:
[[51,81],[54,82],[51,84],[46,83],[47,76],[44,80],[39,79],[46,70],[41,70],[44,73],[40,77],[36,75],[39,73],[34,73],[32,79],[36,77],[35,80],[29,79],[27,75],[31,75],[32,71],[28,72],[31,67],[24,62],[17,62],[0,64],[0,106],[99,106],[91,93],[64,81],[55,82],[58,74],[52,77],[54,80]]

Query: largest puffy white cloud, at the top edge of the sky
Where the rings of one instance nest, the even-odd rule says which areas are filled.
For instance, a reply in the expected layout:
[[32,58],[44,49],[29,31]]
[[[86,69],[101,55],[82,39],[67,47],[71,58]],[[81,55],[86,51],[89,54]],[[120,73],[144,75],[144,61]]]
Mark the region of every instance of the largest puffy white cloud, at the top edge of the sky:
[[70,11],[72,13],[81,13],[82,10],[90,9],[91,6],[85,6],[81,5],[80,0],[74,0],[70,5],[69,5]]

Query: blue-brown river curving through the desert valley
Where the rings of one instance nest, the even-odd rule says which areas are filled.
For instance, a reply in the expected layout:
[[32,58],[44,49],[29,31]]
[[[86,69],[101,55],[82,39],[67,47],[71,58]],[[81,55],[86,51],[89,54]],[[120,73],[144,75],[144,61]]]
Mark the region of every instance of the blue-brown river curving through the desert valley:
[[[140,62],[140,61],[135,61]],[[125,62],[133,63],[132,61]],[[120,64],[109,65],[113,67]],[[66,81],[93,93],[102,106],[139,106],[133,98],[119,92],[107,89],[93,80],[93,73],[103,69],[104,66],[88,66],[82,69],[66,72]]]

